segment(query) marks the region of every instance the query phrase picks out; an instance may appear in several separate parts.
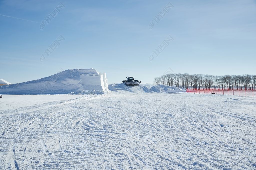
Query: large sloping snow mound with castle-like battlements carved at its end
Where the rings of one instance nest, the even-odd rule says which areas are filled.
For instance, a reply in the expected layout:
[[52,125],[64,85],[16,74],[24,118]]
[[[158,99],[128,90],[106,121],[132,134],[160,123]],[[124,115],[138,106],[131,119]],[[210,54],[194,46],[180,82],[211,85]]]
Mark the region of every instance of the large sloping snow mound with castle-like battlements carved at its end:
[[66,70],[38,80],[0,86],[1,94],[102,94],[108,91],[106,73],[95,69]]

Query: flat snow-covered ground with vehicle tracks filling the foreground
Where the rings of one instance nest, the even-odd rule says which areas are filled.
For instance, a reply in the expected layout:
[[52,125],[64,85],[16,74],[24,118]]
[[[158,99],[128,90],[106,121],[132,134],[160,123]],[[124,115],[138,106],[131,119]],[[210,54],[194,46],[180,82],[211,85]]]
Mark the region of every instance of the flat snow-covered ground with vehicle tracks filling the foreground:
[[0,169],[256,168],[255,98],[139,91],[4,95]]

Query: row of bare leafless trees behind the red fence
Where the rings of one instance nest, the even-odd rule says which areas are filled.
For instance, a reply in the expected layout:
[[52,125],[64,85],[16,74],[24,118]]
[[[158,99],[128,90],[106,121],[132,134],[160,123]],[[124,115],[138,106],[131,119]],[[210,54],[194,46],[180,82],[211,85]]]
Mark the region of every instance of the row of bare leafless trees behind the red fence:
[[205,74],[166,74],[156,77],[156,84],[184,87],[189,89],[218,89],[218,90],[255,90],[256,75],[224,75],[214,76]]

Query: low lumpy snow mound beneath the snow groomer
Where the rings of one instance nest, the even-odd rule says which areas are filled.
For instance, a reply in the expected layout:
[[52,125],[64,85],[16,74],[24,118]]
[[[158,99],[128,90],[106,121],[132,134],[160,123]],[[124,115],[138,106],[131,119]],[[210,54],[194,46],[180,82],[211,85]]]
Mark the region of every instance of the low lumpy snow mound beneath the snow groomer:
[[175,86],[140,84],[138,86],[126,86],[124,83],[113,83],[109,85],[109,90],[125,93],[177,93],[186,92],[186,88],[179,88]]

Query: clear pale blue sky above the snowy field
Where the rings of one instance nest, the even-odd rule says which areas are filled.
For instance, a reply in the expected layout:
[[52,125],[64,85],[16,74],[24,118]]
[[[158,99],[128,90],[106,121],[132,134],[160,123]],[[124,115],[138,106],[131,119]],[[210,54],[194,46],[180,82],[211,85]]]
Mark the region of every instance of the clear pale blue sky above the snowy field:
[[[62,2],[65,8],[40,29]],[[173,8],[156,24],[168,3]],[[256,1],[0,1],[0,79],[36,80],[60,68],[94,68],[109,84],[134,76],[153,83],[174,73],[255,74]],[[154,23],[149,28],[151,21]],[[42,53],[65,41],[43,62]],[[158,56],[151,54],[167,36]]]

